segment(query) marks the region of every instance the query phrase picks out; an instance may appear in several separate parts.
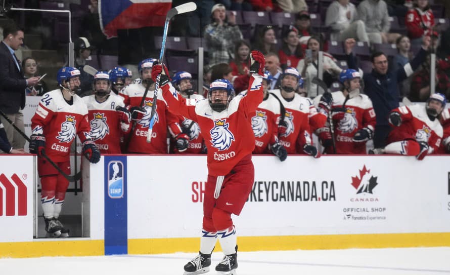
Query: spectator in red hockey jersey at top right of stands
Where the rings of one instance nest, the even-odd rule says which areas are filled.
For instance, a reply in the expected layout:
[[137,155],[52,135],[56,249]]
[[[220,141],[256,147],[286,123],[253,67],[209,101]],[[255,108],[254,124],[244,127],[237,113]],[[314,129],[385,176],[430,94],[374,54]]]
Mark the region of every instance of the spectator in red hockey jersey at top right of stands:
[[411,43],[420,45],[423,35],[429,35],[426,32],[431,31],[434,26],[434,15],[428,0],[416,0],[414,9],[408,11],[405,20]]

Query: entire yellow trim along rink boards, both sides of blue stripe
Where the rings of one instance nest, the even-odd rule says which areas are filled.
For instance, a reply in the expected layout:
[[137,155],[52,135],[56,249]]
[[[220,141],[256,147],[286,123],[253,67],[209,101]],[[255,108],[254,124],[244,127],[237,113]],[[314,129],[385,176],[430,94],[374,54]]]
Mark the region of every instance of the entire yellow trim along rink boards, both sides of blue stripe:
[[[450,232],[238,237],[238,244],[239,251],[450,247]],[[197,252],[199,245],[199,238],[130,239],[128,240],[128,254]],[[218,242],[215,251],[221,251]],[[105,242],[103,240],[67,239],[0,243],[0,258],[99,256],[104,254]]]

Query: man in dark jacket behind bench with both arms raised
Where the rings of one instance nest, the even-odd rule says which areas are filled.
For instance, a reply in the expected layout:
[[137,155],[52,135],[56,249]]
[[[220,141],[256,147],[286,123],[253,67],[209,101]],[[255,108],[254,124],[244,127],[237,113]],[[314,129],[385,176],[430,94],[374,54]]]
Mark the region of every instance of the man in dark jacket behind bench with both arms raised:
[[[345,53],[347,54],[347,65],[349,69],[357,69],[352,49],[356,42],[349,38],[345,41]],[[371,56],[373,70],[371,73],[365,73],[364,92],[372,100],[375,114],[377,116],[377,125],[375,126],[374,145],[375,148],[384,147],[386,138],[390,132],[390,126],[387,118],[391,110],[399,106],[398,83],[413,74],[420,64],[425,60],[426,51],[430,46],[430,37],[423,40],[422,49],[414,59],[398,68],[396,71],[388,70],[387,56],[382,52],[375,52]]]

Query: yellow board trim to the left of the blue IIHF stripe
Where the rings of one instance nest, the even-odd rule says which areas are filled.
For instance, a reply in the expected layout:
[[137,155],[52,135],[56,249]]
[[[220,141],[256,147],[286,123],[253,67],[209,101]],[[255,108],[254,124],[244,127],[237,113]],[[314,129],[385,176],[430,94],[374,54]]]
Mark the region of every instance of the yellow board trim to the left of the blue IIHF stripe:
[[105,255],[103,240],[64,240],[0,243],[0,258],[29,258],[44,256]]

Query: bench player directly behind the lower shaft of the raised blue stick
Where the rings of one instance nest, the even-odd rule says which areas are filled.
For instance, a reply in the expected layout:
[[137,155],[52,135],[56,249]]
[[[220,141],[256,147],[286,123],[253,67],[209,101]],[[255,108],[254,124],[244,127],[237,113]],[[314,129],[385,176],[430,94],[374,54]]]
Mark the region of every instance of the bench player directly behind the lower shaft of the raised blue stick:
[[[149,153],[149,154],[166,154],[167,151],[167,130],[170,135],[176,139],[177,149],[184,151],[188,148],[188,137],[182,132],[179,126],[179,117],[171,113],[167,109],[167,105],[158,93],[156,102],[153,102],[153,94],[155,91],[155,82],[152,80],[152,66],[156,59],[147,58],[139,63],[139,72],[141,73],[142,83],[133,83],[124,87],[119,95],[124,98],[125,106],[131,112],[131,119],[135,125],[130,132],[128,153]],[[150,89],[141,106],[141,101],[145,93],[147,85]],[[155,124],[152,132],[152,142],[147,142],[148,129],[150,125],[150,113],[153,104],[156,104]]]

